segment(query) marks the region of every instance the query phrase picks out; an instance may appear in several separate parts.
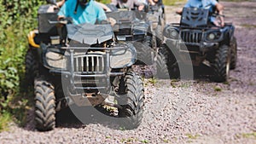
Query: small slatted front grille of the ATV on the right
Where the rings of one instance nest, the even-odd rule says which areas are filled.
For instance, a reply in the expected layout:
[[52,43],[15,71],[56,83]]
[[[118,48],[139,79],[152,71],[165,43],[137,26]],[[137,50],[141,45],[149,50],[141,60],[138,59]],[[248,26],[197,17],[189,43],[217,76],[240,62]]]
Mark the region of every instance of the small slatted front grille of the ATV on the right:
[[195,30],[182,31],[181,38],[185,43],[201,43],[202,32]]

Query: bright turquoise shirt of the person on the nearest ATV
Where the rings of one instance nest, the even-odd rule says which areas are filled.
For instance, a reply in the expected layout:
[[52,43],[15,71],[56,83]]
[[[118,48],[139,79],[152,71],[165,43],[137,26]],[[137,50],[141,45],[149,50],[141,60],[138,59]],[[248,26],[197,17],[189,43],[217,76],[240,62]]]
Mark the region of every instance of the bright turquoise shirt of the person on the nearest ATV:
[[77,0],[66,1],[61,7],[58,15],[72,17],[73,23],[77,25],[83,23],[95,24],[96,20],[102,21],[107,19],[107,16],[102,7],[93,0],[90,0],[86,6],[79,4],[77,13],[75,14],[74,11],[76,4]]

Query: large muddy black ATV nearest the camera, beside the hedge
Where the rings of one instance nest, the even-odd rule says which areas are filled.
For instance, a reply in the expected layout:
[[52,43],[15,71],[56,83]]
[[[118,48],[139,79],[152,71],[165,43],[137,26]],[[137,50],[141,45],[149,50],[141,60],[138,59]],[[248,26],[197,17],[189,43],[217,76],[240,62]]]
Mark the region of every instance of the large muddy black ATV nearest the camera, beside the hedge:
[[[38,31],[31,32],[26,54],[26,78],[34,80],[37,130],[55,128],[55,112],[79,107],[113,107],[126,129],[142,122],[144,89],[133,72],[137,52],[117,43],[112,26],[73,25],[57,20],[52,5],[38,9]],[[84,113],[86,114],[86,113]]]

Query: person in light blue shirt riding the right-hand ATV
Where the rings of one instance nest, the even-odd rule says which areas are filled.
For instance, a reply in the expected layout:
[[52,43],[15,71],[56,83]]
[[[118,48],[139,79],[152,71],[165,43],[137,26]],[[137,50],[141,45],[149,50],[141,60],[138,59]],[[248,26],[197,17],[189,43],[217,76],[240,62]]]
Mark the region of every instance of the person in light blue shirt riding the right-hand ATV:
[[[189,0],[188,3],[185,4],[185,8],[203,8],[203,9],[209,9],[210,12],[213,12],[213,8],[215,7],[218,11],[218,14],[220,14],[220,23],[218,23],[218,20],[215,17],[211,17],[211,22],[215,26],[224,26],[224,17],[222,16],[224,6],[220,3],[218,3],[217,0]],[[177,14],[182,14],[183,10],[177,10]]]

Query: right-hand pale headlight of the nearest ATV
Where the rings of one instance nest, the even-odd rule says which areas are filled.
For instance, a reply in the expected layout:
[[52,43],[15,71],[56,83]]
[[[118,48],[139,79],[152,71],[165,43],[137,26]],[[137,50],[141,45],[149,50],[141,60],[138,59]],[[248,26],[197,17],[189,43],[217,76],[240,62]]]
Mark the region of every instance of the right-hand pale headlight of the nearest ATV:
[[131,43],[128,44],[128,49],[112,50],[110,55],[110,67],[123,68],[133,65],[137,59],[136,54],[136,49]]

